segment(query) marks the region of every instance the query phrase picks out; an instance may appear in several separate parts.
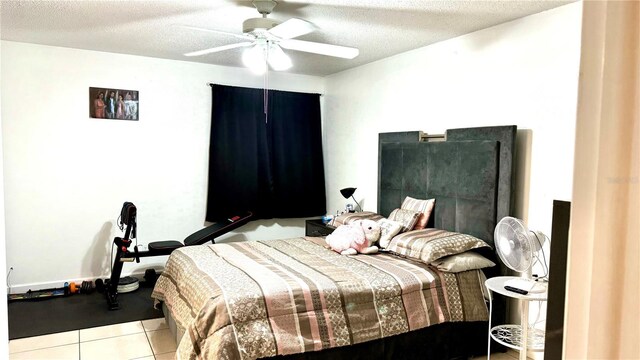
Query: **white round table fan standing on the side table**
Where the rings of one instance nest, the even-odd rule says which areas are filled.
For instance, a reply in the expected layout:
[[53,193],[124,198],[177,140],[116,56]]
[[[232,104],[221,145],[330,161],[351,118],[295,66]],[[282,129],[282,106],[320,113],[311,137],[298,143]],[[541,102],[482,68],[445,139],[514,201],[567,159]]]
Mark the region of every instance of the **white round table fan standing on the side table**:
[[[547,237],[539,231],[527,229],[522,220],[510,216],[504,217],[494,232],[496,252],[505,265],[513,271],[523,273],[524,278],[516,278],[505,282],[505,286],[525,290],[530,293],[541,293],[547,290],[546,282],[535,281],[528,274],[528,270],[539,261],[538,252]],[[544,254],[542,258],[545,272],[548,272]],[[546,277],[547,274],[544,275]]]

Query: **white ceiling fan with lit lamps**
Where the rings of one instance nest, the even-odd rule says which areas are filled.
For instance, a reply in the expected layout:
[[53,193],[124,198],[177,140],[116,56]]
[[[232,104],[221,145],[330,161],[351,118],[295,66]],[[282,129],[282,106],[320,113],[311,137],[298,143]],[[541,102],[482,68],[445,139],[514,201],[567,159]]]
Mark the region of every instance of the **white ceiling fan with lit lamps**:
[[230,35],[245,40],[235,44],[193,51],[184,55],[201,56],[246,47],[247,49],[242,55],[242,62],[257,74],[266,72],[267,64],[276,71],[289,69],[292,66],[291,59],[282,50],[283,48],[344,59],[353,59],[358,56],[359,50],[356,48],[294,39],[316,30],[316,27],[308,21],[297,18],[292,18],[282,23],[268,18],[267,15],[273,11],[276,5],[277,2],[274,0],[254,0],[253,6],[262,14],[262,17],[245,20],[242,23],[242,34],[182,26],[189,29]]

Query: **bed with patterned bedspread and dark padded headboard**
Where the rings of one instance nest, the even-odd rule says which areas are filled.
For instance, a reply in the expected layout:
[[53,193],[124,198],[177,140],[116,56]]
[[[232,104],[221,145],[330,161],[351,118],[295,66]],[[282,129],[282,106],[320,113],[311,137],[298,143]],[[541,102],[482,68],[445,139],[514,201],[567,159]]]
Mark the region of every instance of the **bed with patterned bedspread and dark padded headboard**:
[[[421,141],[419,132],[380,134],[378,212],[389,216],[406,196],[435,198],[428,227],[491,246],[497,219],[511,212],[515,131],[448,130],[442,142]],[[448,359],[486,351],[482,284],[500,267],[451,273],[399,253],[342,256],[321,238],[187,247],[172,253],[152,296],[180,359]],[[483,255],[495,260],[492,251]]]

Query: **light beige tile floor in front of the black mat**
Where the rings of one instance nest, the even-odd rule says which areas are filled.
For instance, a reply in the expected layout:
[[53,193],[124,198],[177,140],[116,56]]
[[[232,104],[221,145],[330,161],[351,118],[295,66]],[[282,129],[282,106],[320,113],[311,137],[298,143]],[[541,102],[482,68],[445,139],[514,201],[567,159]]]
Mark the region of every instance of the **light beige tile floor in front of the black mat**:
[[168,360],[175,352],[175,340],[162,318],[9,341],[11,360]]

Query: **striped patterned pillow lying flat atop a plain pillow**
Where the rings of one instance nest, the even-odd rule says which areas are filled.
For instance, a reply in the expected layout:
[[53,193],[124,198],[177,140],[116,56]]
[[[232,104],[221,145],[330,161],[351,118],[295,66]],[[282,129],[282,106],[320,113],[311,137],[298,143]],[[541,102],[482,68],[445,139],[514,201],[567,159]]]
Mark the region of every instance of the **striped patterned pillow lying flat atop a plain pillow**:
[[391,240],[387,250],[431,264],[442,257],[481,247],[490,246],[471,235],[440,229],[424,229],[397,235]]

